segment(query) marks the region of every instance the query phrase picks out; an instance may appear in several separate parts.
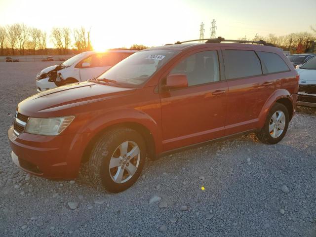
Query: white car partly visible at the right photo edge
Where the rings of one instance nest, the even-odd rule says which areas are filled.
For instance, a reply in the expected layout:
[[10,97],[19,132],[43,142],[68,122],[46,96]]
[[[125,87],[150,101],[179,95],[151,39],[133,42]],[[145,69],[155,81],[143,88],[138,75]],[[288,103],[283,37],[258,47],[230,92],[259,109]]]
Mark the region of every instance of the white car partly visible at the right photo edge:
[[316,57],[296,71],[300,75],[297,104],[316,107]]

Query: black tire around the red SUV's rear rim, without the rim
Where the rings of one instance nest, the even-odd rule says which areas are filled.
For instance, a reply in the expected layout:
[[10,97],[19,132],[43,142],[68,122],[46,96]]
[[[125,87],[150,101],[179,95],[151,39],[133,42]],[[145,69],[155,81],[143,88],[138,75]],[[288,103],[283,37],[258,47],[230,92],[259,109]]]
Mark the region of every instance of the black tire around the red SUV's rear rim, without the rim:
[[[279,135],[278,137],[274,138],[271,136],[270,131],[269,131],[269,125],[270,125],[270,120],[272,118],[272,116],[276,113],[276,111],[282,111],[285,115],[285,126],[283,129],[283,132],[281,133],[281,135]],[[286,134],[287,131],[287,127],[288,127],[288,123],[289,123],[289,115],[288,115],[288,111],[287,108],[280,103],[276,103],[269,111],[269,114],[266,118],[265,124],[264,126],[261,128],[260,131],[256,132],[256,136],[257,138],[266,144],[276,144],[279,141],[281,141],[283,139],[283,137]]]

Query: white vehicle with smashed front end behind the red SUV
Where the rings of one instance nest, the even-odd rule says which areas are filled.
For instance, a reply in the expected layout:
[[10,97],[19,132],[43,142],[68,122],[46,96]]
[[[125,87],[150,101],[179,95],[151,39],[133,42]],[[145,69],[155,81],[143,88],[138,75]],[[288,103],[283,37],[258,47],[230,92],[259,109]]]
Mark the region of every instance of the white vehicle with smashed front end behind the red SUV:
[[136,50],[87,51],[79,53],[60,65],[47,67],[36,76],[39,92],[61,85],[84,81],[99,76]]

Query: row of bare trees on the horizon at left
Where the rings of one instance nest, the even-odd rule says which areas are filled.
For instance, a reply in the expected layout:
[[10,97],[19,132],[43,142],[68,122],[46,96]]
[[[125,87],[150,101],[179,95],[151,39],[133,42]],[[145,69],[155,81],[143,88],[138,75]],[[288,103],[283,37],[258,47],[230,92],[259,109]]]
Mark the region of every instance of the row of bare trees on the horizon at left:
[[[0,55],[68,54],[70,47],[76,53],[92,50],[89,34],[83,27],[73,30],[53,27],[47,36],[45,31],[23,23],[0,26]],[[55,48],[47,48],[47,40]]]

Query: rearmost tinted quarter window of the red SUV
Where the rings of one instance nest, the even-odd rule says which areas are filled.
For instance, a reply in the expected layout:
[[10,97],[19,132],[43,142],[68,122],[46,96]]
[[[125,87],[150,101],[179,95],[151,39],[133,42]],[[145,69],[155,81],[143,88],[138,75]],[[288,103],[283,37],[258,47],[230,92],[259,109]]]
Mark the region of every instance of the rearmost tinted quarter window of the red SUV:
[[263,73],[286,72],[290,69],[276,53],[257,52],[262,63]]

